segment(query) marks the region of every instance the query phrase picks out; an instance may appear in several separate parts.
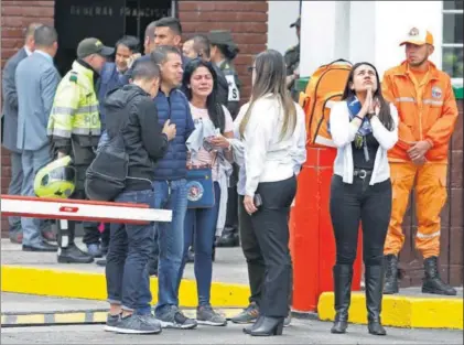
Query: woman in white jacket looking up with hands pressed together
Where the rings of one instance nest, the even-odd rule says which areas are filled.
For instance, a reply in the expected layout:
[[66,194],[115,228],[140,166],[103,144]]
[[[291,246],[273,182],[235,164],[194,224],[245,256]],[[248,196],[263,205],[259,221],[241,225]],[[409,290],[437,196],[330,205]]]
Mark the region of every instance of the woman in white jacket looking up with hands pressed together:
[[386,335],[380,321],[382,260],[392,202],[387,151],[398,141],[398,111],[384,99],[374,65],[353,66],[342,101],[331,111],[330,129],[337,147],[330,202],[336,241],[331,332],[346,332],[360,223],[368,331]]

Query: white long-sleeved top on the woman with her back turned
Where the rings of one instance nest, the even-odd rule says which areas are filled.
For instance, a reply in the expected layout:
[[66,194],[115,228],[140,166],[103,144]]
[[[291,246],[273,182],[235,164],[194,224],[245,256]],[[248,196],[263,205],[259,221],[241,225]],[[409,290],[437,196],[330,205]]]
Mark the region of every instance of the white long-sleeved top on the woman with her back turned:
[[[248,107],[240,108],[234,122],[236,138],[240,138],[239,126]],[[283,181],[300,172],[306,160],[306,129],[304,111],[298,104],[295,107],[295,129],[281,140],[283,108],[279,100],[267,95],[253,104],[244,133],[245,166],[240,166],[238,194],[253,196],[258,183]]]

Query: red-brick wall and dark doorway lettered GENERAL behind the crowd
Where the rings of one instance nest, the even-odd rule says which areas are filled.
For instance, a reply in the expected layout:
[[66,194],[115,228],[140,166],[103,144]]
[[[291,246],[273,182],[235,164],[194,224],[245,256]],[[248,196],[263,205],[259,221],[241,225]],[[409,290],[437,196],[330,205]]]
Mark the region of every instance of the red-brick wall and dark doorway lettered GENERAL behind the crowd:
[[[2,0],[1,67],[24,43],[24,28],[31,22],[55,25],[58,54],[55,57],[62,75],[71,67],[77,43],[85,36],[99,37],[112,45],[123,34],[142,39],[149,22],[164,15],[176,15],[184,39],[195,33],[225,29],[233,32],[240,48],[235,65],[242,82],[241,98],[250,93],[251,76],[247,71],[252,55],[267,47],[268,2],[258,1],[171,1],[171,0]],[[11,177],[8,150],[1,150],[1,192],[8,193]],[[1,219],[8,231],[8,222]]]

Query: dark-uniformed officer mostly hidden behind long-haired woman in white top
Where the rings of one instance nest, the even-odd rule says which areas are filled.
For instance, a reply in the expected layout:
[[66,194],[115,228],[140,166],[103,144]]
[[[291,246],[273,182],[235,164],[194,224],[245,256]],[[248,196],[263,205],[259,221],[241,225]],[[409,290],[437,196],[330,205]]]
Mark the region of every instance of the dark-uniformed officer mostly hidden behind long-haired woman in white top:
[[[229,85],[226,107],[235,120],[240,107],[241,84],[231,62],[237,56],[239,50],[233,40],[230,31],[213,30],[209,32],[208,39],[211,43],[211,61],[223,71]],[[226,225],[220,238],[216,241],[218,247],[235,247],[239,245],[237,181],[238,165],[234,164],[234,172],[229,180]]]

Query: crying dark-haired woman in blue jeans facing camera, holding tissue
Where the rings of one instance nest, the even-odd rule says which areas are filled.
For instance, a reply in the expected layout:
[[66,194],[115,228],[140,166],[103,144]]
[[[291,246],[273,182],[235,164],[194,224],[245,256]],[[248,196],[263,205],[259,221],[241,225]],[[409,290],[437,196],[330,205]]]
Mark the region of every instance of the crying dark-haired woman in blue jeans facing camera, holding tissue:
[[[217,88],[216,72],[208,62],[201,58],[191,61],[184,72],[183,87],[185,89],[190,107],[195,122],[202,122],[206,128],[212,121],[215,131],[222,136],[201,138],[203,147],[191,155],[187,164],[203,168],[212,168],[214,181],[215,205],[211,208],[190,208],[185,215],[184,224],[184,257],[181,266],[181,277],[183,274],[187,259],[187,250],[192,244],[192,236],[195,236],[195,277],[198,292],[198,308],[196,320],[199,324],[223,326],[227,324],[224,316],[216,313],[209,303],[209,293],[213,272],[213,245],[216,233],[216,222],[220,205],[219,187],[219,162],[223,158],[231,160],[231,147],[226,138],[234,137],[234,122],[226,107],[216,100]],[[227,184],[225,186],[227,188]]]

